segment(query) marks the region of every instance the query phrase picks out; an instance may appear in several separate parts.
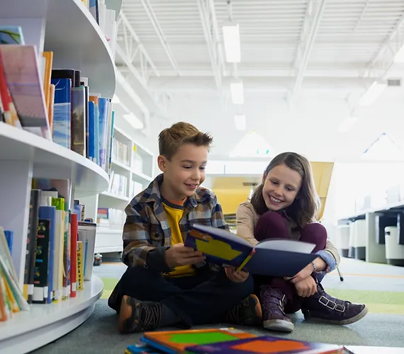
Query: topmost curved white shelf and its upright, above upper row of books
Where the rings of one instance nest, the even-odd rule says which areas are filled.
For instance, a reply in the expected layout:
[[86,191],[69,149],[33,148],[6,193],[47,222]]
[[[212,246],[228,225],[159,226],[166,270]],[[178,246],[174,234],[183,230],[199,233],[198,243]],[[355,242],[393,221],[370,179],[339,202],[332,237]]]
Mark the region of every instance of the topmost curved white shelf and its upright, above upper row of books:
[[[0,0],[0,23],[21,25],[27,45],[37,45],[45,25],[44,50],[53,52],[53,69],[77,69],[89,78],[91,93],[112,98],[114,59],[98,23],[81,0]],[[41,23],[41,18],[44,19]],[[30,33],[30,29],[33,29]]]

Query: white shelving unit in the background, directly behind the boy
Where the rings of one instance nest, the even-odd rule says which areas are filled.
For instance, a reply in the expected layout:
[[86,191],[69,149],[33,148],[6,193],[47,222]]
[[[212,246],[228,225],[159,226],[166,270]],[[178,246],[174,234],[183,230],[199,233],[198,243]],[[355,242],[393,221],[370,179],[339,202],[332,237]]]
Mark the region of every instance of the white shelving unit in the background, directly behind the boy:
[[[118,142],[125,144],[128,147],[128,161],[118,161],[112,159],[111,169],[114,173],[118,173],[128,178],[127,193],[125,195],[114,195],[111,192],[100,193],[97,196],[80,199],[80,203],[86,205],[86,217],[96,219],[97,210],[99,207],[108,207],[109,209],[121,210],[124,213],[125,207],[130,200],[141,190],[147,187],[154,178],[154,154],[141,144],[138,144],[135,139],[123,132],[119,127],[114,127],[114,137]],[[138,153],[142,158],[142,166],[138,166],[134,160],[135,153]],[[138,189],[133,190],[133,186],[138,183]],[[97,226],[96,232],[96,253],[109,253],[122,251],[122,231],[123,218],[112,227],[106,227],[102,224]]]

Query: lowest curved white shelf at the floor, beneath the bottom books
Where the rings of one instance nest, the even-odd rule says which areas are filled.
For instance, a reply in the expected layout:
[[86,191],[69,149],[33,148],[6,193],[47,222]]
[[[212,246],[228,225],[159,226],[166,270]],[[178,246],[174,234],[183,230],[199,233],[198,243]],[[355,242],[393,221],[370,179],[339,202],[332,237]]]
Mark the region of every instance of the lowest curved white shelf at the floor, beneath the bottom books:
[[93,275],[77,297],[57,304],[32,304],[30,311],[1,322],[1,353],[28,353],[69,333],[89,318],[102,292],[102,280]]

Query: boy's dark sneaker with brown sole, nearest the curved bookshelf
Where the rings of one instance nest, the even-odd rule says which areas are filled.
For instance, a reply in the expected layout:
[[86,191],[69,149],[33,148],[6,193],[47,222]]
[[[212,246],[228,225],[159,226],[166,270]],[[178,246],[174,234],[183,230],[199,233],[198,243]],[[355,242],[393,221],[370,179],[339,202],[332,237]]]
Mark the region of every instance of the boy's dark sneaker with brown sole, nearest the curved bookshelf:
[[139,301],[123,295],[119,311],[119,331],[133,333],[157,329],[162,320],[162,304]]

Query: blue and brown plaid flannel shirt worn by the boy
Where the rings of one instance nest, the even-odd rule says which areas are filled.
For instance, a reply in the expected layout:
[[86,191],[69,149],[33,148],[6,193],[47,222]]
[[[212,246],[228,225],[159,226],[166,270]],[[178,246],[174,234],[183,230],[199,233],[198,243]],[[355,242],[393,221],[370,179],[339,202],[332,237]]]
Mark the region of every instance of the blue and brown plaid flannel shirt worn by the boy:
[[[156,247],[171,246],[172,232],[160,194],[162,181],[163,174],[160,174],[125,208],[122,261],[129,267],[144,266],[147,252]],[[192,224],[228,229],[222,207],[211,190],[199,187],[186,200],[184,215],[179,222],[184,240]]]

